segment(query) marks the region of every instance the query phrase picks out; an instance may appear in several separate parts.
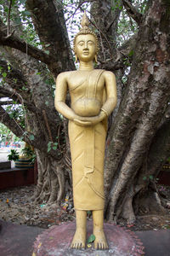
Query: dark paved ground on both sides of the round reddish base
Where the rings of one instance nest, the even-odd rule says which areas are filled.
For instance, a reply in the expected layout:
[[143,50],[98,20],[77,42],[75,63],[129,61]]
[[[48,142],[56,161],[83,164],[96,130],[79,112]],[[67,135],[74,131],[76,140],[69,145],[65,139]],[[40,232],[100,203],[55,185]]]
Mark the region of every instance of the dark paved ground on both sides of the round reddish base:
[[[10,224],[0,220],[0,255],[31,256],[33,242],[42,231],[37,227]],[[145,256],[170,255],[170,230],[138,231],[135,233],[144,244]]]

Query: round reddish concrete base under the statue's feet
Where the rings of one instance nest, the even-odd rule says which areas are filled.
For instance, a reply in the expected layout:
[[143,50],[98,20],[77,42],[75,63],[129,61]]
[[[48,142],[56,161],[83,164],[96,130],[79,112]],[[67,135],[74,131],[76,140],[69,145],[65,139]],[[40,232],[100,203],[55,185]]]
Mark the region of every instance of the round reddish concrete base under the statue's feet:
[[[105,224],[105,234],[109,243],[109,249],[105,251],[94,250],[94,247],[86,250],[71,249],[71,240],[76,230],[75,223],[61,224],[45,230],[37,236],[34,243],[32,256],[71,256],[71,255],[95,255],[95,256],[138,256],[144,255],[144,247],[138,237],[130,230],[114,224]],[[93,223],[88,222],[88,236],[92,234]]]

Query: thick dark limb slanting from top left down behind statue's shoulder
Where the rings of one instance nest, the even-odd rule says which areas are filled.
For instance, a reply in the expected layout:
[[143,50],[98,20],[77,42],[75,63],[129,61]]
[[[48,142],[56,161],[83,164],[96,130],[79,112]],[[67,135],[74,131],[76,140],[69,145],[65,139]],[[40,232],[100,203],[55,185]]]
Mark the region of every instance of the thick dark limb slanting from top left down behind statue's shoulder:
[[55,58],[53,66],[56,67],[52,67],[55,69],[54,73],[57,69],[59,73],[75,69],[61,7],[60,1],[26,1],[26,9],[31,12],[36,32],[43,42],[42,47],[47,49],[50,55]]

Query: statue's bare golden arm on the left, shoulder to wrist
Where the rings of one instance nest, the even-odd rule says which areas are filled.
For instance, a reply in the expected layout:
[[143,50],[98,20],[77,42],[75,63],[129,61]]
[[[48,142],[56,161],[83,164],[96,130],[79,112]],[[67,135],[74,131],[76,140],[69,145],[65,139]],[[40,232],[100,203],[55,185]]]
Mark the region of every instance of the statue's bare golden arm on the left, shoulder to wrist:
[[57,111],[64,115],[66,119],[75,119],[77,114],[65,104],[67,93],[66,73],[59,73],[56,80],[55,100],[54,105]]

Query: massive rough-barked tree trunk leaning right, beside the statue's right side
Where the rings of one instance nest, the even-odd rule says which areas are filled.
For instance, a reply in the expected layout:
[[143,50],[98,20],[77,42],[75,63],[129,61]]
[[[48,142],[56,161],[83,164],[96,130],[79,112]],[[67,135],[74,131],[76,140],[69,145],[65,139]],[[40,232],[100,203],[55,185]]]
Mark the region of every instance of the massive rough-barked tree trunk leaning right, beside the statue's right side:
[[133,222],[133,199],[141,190],[148,193],[149,177],[158,169],[151,167],[148,160],[170,96],[169,10],[165,1],[151,2],[139,28],[127,88],[106,154],[105,213],[110,219],[122,214]]

